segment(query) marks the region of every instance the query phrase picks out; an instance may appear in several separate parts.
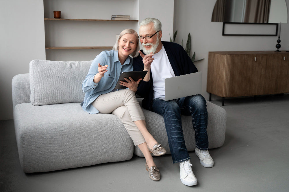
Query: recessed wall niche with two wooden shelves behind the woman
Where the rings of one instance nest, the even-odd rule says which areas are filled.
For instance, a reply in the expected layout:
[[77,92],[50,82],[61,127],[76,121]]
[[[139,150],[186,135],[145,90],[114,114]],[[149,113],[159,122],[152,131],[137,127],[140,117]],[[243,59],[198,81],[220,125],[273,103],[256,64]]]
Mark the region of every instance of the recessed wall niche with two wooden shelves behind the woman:
[[[114,1],[108,10],[110,4],[101,0],[43,0],[46,60],[93,60],[102,51],[112,50],[122,30],[138,29],[139,0]],[[54,18],[53,10],[61,10],[61,18]],[[130,20],[111,19],[112,15],[130,15]]]

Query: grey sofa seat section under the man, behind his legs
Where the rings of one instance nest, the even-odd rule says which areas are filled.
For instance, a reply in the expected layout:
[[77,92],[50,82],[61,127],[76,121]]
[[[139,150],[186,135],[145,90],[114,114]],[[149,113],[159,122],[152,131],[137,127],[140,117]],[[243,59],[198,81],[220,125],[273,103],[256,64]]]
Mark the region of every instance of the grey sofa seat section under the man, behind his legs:
[[[138,98],[138,102],[141,105],[142,98]],[[164,125],[164,119],[162,115],[151,112],[146,109],[142,109],[144,116],[146,118],[146,125],[148,131],[153,135],[153,137],[163,145],[167,153],[170,154],[170,148],[168,146],[168,137],[166,134],[166,128]],[[209,148],[221,147],[225,141],[225,132],[226,132],[226,122],[227,122],[227,113],[225,109],[220,106],[217,106],[210,101],[207,101],[207,110],[208,110],[208,139],[209,139]],[[194,129],[192,125],[191,116],[181,115],[182,119],[182,128],[184,133],[184,139],[186,142],[186,147],[188,151],[195,150],[195,137]],[[140,157],[144,157],[142,152],[138,147],[135,147],[134,153]]]

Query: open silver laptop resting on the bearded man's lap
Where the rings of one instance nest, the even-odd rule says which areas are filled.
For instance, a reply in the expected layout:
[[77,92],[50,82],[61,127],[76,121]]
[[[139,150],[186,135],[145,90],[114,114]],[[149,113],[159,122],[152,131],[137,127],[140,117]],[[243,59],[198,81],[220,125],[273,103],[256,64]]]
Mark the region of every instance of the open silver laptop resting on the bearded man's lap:
[[202,90],[202,72],[166,78],[164,85],[164,100],[166,101],[200,94]]

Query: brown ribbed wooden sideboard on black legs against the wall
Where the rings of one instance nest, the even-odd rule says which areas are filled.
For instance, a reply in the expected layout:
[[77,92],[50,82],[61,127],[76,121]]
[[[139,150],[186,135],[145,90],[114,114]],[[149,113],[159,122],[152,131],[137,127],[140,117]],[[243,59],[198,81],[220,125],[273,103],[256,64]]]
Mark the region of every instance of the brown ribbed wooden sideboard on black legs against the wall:
[[209,52],[207,92],[223,98],[289,92],[289,52]]

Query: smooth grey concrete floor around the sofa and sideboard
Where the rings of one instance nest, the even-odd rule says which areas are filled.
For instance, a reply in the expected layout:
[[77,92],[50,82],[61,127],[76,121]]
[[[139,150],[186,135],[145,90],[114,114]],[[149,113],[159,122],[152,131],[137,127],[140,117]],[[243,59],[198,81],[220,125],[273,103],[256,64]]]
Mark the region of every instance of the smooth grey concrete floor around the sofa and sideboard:
[[[221,106],[221,100],[213,103]],[[153,181],[144,158],[53,172],[25,174],[18,160],[13,120],[0,121],[0,191],[289,191],[289,95],[226,99],[225,143],[210,149],[204,168],[190,152],[198,185],[179,179],[171,155],[154,157],[162,178]]]

